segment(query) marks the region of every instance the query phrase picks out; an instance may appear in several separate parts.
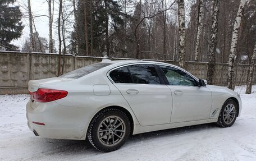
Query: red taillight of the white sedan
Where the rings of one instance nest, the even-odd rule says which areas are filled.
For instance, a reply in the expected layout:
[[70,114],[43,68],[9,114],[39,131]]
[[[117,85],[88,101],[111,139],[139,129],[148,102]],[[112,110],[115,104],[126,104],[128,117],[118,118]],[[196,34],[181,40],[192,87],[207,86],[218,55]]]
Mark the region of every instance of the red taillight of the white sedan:
[[67,96],[65,90],[54,90],[54,89],[38,89],[31,93],[31,98],[36,102],[51,102],[53,100],[61,99]]

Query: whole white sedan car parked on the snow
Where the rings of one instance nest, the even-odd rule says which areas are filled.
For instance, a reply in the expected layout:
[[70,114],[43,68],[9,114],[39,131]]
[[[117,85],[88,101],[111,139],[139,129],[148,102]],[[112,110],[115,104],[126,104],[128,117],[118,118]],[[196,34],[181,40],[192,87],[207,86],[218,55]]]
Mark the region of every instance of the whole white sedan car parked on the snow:
[[28,126],[36,136],[85,140],[101,151],[130,135],[216,122],[241,113],[235,91],[206,85],[180,67],[104,59],[60,77],[29,81]]

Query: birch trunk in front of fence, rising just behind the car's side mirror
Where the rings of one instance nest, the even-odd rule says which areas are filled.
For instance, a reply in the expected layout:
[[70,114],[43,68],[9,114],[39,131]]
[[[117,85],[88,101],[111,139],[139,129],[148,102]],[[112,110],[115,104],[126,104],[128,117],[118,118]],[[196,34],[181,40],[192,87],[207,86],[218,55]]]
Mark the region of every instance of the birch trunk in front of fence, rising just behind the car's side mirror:
[[213,16],[212,16],[212,30],[211,30],[211,43],[209,47],[209,64],[207,71],[207,82],[213,84],[213,77],[216,64],[216,45],[217,45],[217,33],[218,33],[218,13],[220,11],[220,0],[214,1],[213,4]]

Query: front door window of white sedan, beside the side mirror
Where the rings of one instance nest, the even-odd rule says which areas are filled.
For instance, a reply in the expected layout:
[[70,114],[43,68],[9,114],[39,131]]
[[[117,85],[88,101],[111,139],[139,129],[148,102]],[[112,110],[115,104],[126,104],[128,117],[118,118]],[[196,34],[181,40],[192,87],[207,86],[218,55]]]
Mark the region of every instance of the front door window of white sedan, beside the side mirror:
[[159,66],[159,67],[162,69],[170,85],[197,86],[196,80],[190,75],[188,75],[188,73],[173,67],[168,67],[168,66]]

